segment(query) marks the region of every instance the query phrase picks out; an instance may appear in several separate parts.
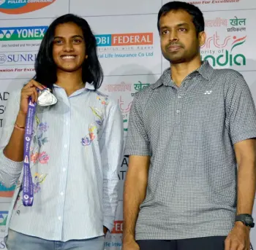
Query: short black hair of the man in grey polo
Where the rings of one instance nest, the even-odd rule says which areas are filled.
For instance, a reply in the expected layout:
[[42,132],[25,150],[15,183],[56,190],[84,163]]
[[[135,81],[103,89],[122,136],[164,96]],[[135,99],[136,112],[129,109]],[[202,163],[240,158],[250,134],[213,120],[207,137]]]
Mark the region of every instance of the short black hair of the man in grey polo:
[[197,31],[197,35],[205,30],[205,21],[203,18],[203,13],[193,4],[188,4],[184,1],[170,1],[167,4],[164,4],[162,8],[158,12],[157,17],[157,28],[159,31],[159,20],[160,18],[167,14],[170,11],[184,10],[192,16],[192,21],[195,25],[195,30]]

